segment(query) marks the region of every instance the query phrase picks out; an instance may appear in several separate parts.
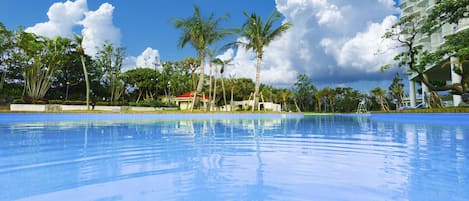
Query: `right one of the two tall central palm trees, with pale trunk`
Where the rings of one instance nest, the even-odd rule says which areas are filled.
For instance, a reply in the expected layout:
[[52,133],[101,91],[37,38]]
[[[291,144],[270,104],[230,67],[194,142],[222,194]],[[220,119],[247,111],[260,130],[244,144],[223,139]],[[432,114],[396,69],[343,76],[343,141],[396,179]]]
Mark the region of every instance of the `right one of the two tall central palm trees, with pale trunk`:
[[281,15],[278,11],[274,10],[267,18],[265,23],[262,18],[255,13],[248,14],[244,12],[247,17],[246,22],[240,30],[240,35],[247,39],[247,42],[237,42],[241,46],[244,46],[246,50],[252,49],[256,53],[257,64],[256,64],[256,85],[254,88],[254,102],[252,111],[259,102],[259,87],[260,87],[260,74],[261,64],[264,56],[264,47],[268,46],[275,38],[286,32],[291,26],[291,23],[283,23],[277,28],[273,28],[273,24],[280,19]]

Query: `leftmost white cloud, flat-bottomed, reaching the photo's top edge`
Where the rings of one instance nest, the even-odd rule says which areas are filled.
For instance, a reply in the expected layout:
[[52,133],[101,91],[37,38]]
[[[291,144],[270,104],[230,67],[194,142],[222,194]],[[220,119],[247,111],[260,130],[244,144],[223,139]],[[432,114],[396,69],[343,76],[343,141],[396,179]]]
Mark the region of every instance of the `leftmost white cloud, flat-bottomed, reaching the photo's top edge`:
[[25,31],[49,38],[56,36],[71,37],[73,27],[83,18],[87,10],[86,0],[54,3],[47,12],[49,21],[37,23]]

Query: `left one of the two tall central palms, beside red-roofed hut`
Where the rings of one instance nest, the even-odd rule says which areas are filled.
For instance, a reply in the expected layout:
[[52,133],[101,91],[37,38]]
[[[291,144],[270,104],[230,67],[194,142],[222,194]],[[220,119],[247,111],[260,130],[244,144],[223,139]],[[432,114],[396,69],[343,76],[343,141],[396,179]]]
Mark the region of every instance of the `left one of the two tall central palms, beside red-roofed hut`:
[[194,108],[194,104],[199,101],[197,94],[202,91],[204,84],[204,61],[207,55],[207,48],[215,41],[229,34],[227,30],[219,28],[220,22],[227,19],[227,15],[215,19],[213,13],[208,18],[203,18],[199,7],[194,5],[194,14],[192,16],[185,19],[176,18],[172,20],[174,27],[182,30],[178,46],[184,48],[189,43],[196,49],[197,56],[201,61],[199,82],[194,94],[191,110]]

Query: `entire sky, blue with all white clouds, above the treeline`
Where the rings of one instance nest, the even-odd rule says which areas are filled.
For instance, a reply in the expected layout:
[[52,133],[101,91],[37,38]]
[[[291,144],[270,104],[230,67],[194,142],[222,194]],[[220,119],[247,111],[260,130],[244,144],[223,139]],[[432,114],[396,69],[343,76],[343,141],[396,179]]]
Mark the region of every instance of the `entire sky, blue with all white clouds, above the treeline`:
[[[319,87],[353,87],[369,91],[387,88],[398,70],[380,72],[392,63],[397,49],[383,33],[397,22],[395,0],[0,0],[0,22],[8,28],[46,37],[83,35],[85,52],[94,56],[105,41],[126,47],[124,69],[152,67],[195,56],[192,47],[177,47],[181,31],[170,23],[187,18],[198,5],[202,14],[228,14],[222,27],[239,27],[244,11],[267,18],[278,10],[293,27],[265,48],[261,74],[264,84],[292,86],[300,74]],[[218,44],[243,40],[231,36]],[[221,51],[233,59],[226,75],[255,77],[255,54],[242,48]],[[208,68],[207,68],[208,69]],[[207,71],[206,71],[207,72]]]

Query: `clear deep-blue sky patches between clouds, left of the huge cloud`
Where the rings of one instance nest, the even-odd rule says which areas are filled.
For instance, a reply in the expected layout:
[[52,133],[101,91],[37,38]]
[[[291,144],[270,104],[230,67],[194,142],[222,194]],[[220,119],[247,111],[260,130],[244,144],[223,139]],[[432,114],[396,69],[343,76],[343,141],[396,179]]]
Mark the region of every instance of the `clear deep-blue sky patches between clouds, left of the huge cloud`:
[[[30,27],[48,20],[47,11],[57,0],[2,0],[0,2],[0,21],[10,29],[19,25]],[[250,1],[249,5],[239,1],[198,0],[93,0],[88,1],[89,10],[96,10],[103,3],[115,7],[113,22],[120,28],[122,46],[127,47],[129,55],[138,55],[146,47],[157,48],[163,60],[178,60],[194,54],[193,49],[177,48],[180,31],[168,21],[171,18],[185,18],[192,14],[193,5],[198,5],[206,15],[214,12],[217,16],[229,14],[230,20],[223,26],[240,26],[245,17],[243,11],[255,11],[267,16],[274,8],[274,1]],[[24,6],[29,5],[29,6]],[[77,33],[80,30],[75,29]],[[235,40],[236,38],[230,38]],[[229,40],[229,39],[227,39]]]

